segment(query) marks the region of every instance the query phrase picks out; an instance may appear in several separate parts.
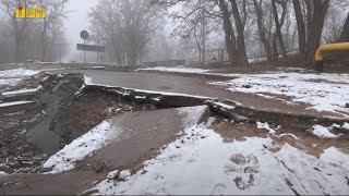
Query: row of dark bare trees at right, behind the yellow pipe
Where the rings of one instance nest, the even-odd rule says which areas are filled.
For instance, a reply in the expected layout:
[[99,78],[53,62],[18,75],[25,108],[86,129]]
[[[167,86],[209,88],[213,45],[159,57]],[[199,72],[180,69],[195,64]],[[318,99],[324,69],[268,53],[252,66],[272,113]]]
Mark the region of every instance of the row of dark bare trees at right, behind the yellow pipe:
[[[265,56],[268,61],[277,60],[279,57],[287,60],[291,50],[299,50],[302,61],[312,62],[321,44],[349,41],[349,2],[346,0],[154,2],[184,8],[172,14],[174,21],[180,24],[174,32],[181,38],[197,40],[200,35],[200,38],[206,38],[206,41],[218,40],[209,35],[212,30],[221,32],[232,64],[249,64],[248,54],[255,51],[260,51],[258,53]],[[202,25],[205,27],[197,28]],[[202,29],[200,34],[197,29]],[[202,53],[204,48],[202,45],[197,47],[198,52]]]

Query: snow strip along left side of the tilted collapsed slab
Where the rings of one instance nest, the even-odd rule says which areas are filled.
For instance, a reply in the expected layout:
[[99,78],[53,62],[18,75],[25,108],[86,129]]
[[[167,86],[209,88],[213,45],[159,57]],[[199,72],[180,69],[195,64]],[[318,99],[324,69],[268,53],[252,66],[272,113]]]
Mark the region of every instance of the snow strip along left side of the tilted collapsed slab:
[[76,161],[92,156],[94,151],[117,138],[121,132],[120,127],[111,126],[111,123],[106,120],[51,156],[44,163],[44,168],[51,168],[52,171],[49,173],[71,170]]

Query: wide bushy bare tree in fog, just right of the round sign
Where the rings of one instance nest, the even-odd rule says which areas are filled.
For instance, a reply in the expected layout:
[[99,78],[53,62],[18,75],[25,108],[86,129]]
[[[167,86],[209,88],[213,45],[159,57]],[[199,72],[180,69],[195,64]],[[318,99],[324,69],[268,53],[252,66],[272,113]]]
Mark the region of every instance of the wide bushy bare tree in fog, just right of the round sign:
[[137,64],[164,24],[165,9],[149,0],[99,0],[88,16],[95,42],[106,46],[112,63]]

